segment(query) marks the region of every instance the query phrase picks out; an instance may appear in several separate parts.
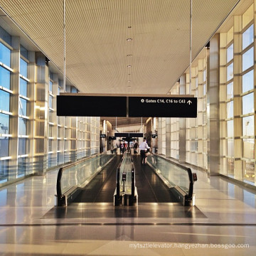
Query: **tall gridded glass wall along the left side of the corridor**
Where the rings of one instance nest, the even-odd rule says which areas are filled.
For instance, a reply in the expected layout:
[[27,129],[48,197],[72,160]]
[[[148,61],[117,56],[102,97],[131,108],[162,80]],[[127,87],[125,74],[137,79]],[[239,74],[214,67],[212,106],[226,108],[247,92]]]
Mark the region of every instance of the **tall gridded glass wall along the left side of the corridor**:
[[62,75],[50,69],[43,53],[0,30],[0,186],[97,154],[100,117],[57,117]]

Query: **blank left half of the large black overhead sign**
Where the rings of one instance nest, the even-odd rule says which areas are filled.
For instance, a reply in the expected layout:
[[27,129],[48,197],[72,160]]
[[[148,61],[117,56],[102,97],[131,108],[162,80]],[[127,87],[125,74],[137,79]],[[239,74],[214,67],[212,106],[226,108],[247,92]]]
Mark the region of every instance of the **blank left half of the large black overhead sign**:
[[57,115],[73,117],[126,117],[127,97],[58,95]]

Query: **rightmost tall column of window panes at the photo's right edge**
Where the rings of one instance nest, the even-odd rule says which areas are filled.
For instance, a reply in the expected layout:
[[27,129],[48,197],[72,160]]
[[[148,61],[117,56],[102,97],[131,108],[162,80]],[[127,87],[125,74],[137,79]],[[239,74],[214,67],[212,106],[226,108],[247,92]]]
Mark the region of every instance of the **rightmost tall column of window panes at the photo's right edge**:
[[[242,15],[242,178],[255,182],[253,5]],[[246,18],[245,18],[246,16]]]

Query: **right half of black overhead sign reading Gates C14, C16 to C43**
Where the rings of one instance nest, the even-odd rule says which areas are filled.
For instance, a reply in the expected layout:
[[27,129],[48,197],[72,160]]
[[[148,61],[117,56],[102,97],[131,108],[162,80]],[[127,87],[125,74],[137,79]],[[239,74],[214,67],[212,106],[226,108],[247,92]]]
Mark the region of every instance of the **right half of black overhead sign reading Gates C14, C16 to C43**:
[[129,97],[129,117],[196,116],[196,97]]

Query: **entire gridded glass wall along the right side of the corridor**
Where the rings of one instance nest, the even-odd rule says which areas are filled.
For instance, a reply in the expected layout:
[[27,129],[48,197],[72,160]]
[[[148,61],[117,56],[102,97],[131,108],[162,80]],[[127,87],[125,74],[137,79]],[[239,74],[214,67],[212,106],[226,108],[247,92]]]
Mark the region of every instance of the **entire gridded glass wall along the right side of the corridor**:
[[[220,173],[252,185],[256,183],[254,2],[242,14],[239,10],[233,16],[233,23],[230,22],[232,19],[228,26],[223,23],[225,31],[220,29],[219,75],[213,77],[214,82],[219,79],[219,105],[215,103],[216,106],[210,109],[210,100],[207,98],[211,96],[207,88],[210,88],[208,81],[211,81],[212,74],[210,70],[207,71],[210,65],[207,62],[210,58],[215,59],[216,53],[211,55],[210,50],[201,50],[192,63],[191,83],[189,69],[183,74],[186,76],[186,94],[198,98],[198,117],[186,119],[186,162],[208,169],[209,145],[215,142],[210,137],[213,126],[208,124],[207,118],[211,118],[210,111],[219,111],[220,169],[216,163],[215,174]],[[171,90],[176,90],[175,86]],[[216,116],[215,113],[213,116]],[[163,119],[159,120],[160,127],[164,127]],[[171,119],[171,126],[175,127],[176,122],[178,120]],[[172,129],[171,132],[171,156],[174,158],[177,149],[175,139],[178,138],[175,131]],[[162,128],[159,132],[166,131]],[[159,148],[163,149],[166,143],[164,135],[161,134],[159,140]],[[161,154],[164,154],[164,150]]]

